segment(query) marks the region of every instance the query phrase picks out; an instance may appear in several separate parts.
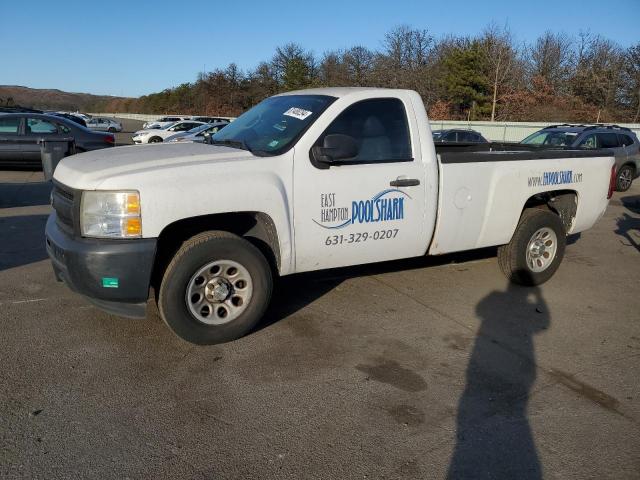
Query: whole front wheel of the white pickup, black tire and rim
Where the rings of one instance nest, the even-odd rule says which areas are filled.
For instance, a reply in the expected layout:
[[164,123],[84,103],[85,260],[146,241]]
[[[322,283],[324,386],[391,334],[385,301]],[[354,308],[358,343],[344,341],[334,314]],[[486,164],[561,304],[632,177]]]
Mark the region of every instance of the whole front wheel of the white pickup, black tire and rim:
[[199,345],[228,342],[262,318],[273,289],[264,255],[228,232],[204,232],[186,241],[162,278],[158,309],[183,340]]

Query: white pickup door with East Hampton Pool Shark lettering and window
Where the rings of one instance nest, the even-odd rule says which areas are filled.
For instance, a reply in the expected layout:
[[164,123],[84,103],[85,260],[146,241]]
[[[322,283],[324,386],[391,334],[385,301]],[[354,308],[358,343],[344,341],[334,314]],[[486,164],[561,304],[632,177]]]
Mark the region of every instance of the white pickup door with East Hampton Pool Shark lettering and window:
[[418,142],[409,133],[417,135],[409,128],[409,108],[398,99],[364,100],[327,122],[316,146],[331,134],[348,135],[358,145],[353,158],[329,168],[314,165],[309,142],[296,146],[296,271],[425,253],[425,168],[419,147],[412,150]]

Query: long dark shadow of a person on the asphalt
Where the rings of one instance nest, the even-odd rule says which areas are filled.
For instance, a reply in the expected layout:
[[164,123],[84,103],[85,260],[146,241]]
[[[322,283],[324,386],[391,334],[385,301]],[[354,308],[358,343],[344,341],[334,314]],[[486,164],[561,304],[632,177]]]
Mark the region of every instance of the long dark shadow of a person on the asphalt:
[[537,287],[509,284],[478,303],[481,320],[457,414],[447,478],[541,479],[527,418],[536,380],[534,336],[550,315]]

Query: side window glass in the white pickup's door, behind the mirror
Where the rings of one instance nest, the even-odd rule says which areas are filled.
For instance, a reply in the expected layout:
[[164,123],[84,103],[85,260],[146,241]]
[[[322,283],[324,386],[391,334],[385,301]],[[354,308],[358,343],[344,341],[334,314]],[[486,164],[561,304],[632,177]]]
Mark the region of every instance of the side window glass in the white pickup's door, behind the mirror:
[[351,105],[329,125],[318,144],[332,134],[348,135],[355,140],[358,154],[348,162],[412,160],[407,114],[397,98],[364,100]]

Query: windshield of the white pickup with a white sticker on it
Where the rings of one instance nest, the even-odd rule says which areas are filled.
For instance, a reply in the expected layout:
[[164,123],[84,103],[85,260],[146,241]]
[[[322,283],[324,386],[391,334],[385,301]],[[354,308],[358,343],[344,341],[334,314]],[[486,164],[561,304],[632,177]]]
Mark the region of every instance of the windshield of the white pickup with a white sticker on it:
[[267,98],[213,135],[212,143],[262,155],[280,155],[334,100],[325,95]]

